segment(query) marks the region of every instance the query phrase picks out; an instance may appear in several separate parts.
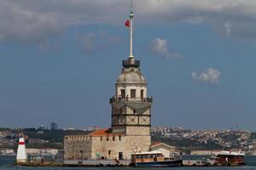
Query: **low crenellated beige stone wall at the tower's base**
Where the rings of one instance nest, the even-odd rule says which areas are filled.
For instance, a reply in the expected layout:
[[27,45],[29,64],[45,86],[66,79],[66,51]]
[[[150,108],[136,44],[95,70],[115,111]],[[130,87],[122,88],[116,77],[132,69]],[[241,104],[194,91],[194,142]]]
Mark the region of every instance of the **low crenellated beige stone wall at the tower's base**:
[[150,136],[88,136],[73,135],[64,139],[65,160],[116,159],[119,152],[131,159],[135,151],[148,151]]

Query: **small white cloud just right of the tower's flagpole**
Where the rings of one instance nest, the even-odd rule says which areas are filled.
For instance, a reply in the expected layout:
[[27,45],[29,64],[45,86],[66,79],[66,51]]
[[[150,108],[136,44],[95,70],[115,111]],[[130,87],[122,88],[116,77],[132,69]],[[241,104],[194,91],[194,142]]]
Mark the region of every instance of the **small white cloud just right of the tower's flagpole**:
[[154,38],[154,40],[151,42],[151,52],[153,54],[157,55],[163,55],[167,59],[170,58],[176,58],[179,59],[181,58],[180,55],[178,54],[171,54],[168,49],[168,42],[166,39],[161,39],[159,37]]

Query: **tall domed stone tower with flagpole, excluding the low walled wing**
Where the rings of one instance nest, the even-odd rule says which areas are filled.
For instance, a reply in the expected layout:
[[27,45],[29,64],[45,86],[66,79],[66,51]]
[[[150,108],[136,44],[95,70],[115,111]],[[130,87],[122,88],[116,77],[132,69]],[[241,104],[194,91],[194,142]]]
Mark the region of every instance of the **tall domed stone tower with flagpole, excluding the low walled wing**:
[[123,60],[122,72],[115,83],[115,95],[110,99],[112,132],[125,135],[126,150],[134,148],[135,151],[148,151],[151,143],[152,97],[148,97],[147,82],[140,70],[140,61],[132,54],[132,11],[130,19],[125,22],[125,26],[130,27],[130,56]]

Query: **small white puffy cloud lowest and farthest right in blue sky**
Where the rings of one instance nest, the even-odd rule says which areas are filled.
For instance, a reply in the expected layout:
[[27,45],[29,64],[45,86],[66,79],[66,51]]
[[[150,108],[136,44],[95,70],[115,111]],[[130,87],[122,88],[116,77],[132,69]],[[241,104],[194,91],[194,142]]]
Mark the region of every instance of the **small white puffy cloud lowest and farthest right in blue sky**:
[[201,73],[192,72],[191,77],[194,81],[217,84],[219,77],[221,77],[221,72],[217,69],[208,68],[206,71],[201,71]]

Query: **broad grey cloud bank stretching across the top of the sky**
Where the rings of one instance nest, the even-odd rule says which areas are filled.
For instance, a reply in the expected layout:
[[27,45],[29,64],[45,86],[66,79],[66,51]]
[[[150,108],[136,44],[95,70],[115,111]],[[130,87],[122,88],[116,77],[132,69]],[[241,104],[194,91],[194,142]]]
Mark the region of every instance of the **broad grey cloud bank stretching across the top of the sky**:
[[[0,41],[44,43],[68,26],[123,24],[130,1],[1,0]],[[135,0],[137,24],[210,23],[220,35],[256,39],[255,0]]]

